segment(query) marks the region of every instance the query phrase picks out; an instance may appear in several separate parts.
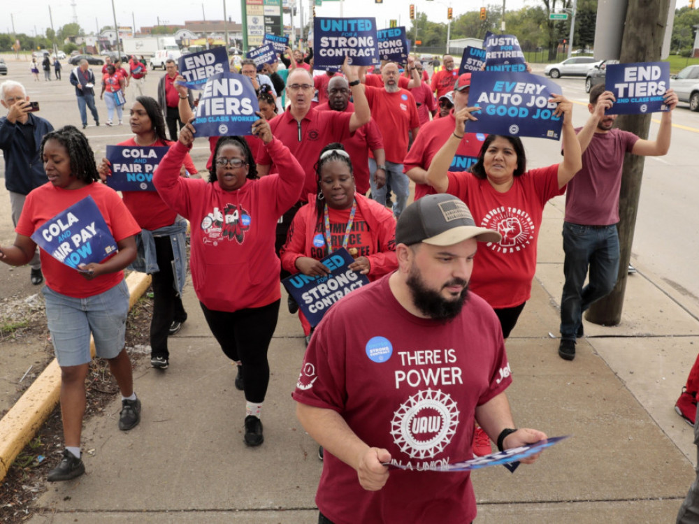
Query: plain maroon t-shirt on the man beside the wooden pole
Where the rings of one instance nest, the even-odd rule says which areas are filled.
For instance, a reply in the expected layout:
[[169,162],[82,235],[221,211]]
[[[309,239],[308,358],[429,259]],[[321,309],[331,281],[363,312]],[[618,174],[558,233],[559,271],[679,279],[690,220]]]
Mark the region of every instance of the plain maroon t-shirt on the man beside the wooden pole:
[[637,140],[635,134],[621,129],[593,134],[582,154],[582,169],[568,182],[566,222],[583,226],[617,224],[624,154],[633,150]]

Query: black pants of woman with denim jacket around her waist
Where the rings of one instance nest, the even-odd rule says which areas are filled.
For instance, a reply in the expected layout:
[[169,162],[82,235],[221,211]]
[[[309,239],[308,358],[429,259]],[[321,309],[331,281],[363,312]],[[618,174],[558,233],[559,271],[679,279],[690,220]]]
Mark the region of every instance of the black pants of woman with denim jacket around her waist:
[[187,312],[175,286],[173,247],[170,237],[154,237],[160,270],[153,277],[153,318],[150,321],[150,356],[170,357],[168,332],[173,321],[184,322]]

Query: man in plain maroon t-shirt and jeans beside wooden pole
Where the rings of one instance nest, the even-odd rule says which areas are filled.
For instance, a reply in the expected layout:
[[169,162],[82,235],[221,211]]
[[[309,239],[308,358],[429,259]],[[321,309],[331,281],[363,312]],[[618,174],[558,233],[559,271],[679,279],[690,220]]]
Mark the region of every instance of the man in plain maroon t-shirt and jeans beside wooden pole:
[[[658,136],[651,141],[612,129],[617,115],[605,115],[605,110],[612,108],[614,94],[605,91],[604,84],[590,90],[587,107],[593,117],[577,129],[582,169],[568,182],[565,193],[565,283],[559,356],[566,361],[575,358],[575,339],[584,335],[582,313],[611,293],[619,276],[617,222],[624,155],[628,152],[658,157],[670,149],[672,110],[677,105],[677,94],[668,89],[663,98],[670,110],[662,113]],[[584,286],[588,268],[590,280]]]

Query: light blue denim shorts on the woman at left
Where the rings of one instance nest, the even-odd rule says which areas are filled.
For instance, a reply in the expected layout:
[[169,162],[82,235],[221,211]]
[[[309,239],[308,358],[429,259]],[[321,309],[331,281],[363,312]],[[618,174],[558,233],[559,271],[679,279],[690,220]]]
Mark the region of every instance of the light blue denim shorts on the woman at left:
[[49,286],[43,286],[41,293],[46,299],[46,319],[58,365],[89,363],[90,333],[100,358],[115,358],[124,349],[129,314],[129,288],[124,280],[87,298],[62,295]]

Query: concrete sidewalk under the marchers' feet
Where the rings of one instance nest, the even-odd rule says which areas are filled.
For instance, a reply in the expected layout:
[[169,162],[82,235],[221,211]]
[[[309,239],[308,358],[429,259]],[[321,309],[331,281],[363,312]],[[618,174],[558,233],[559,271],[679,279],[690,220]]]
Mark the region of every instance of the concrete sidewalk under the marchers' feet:
[[[563,199],[544,216],[532,298],[507,341],[508,396],[519,425],[572,438],[515,474],[474,472],[477,522],[672,522],[694,477],[692,431],[673,406],[699,348],[696,312],[640,267],[628,280],[621,325],[585,323],[575,361],[563,361],[549,337],[559,325]],[[171,338],[170,368],[158,372],[142,359],[135,370],[140,425],[117,430],[117,401],[89,421],[87,474],[48,485],[35,503],[43,514],[29,522],[315,523],[322,463],[294,415],[304,343],[284,305],[259,449],[243,444],[243,393],[190,283],[189,320]]]

